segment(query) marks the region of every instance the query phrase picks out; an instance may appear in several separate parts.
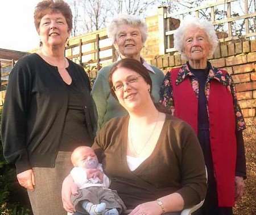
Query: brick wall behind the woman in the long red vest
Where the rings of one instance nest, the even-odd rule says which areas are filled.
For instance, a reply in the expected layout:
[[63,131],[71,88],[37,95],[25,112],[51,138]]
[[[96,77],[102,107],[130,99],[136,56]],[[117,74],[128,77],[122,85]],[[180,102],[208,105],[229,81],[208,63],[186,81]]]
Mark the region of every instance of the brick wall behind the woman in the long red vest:
[[[184,63],[177,52],[151,60],[152,65],[164,72]],[[226,69],[232,75],[246,123],[256,125],[256,40],[220,43],[210,63],[214,67]]]

